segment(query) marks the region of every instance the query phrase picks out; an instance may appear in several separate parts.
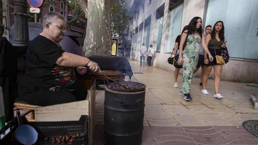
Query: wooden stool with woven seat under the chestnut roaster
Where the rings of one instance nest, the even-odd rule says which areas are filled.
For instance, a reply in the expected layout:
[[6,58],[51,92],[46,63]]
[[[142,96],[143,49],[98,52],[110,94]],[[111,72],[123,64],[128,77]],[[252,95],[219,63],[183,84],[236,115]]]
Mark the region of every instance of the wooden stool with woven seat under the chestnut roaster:
[[35,108],[36,107],[41,107],[41,106],[36,106],[36,105],[30,105],[26,102],[24,102],[21,99],[15,99],[14,103],[13,103],[13,108],[18,108],[18,109],[28,109],[29,111],[27,111],[26,113],[24,113],[22,116],[26,116],[27,114],[30,113],[30,119],[27,118],[28,121],[30,122],[34,122],[35,121]]

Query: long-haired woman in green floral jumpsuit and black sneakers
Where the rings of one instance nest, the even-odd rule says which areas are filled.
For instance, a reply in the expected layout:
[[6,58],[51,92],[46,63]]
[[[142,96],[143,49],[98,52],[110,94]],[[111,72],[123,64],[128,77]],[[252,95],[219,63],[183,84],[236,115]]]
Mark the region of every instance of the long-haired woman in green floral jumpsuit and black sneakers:
[[[201,18],[194,17],[190,21],[184,33],[182,33],[180,39],[179,59],[177,63],[179,65],[183,65],[183,83],[179,94],[183,95],[185,100],[192,100],[189,90],[191,87],[193,71],[198,63],[200,49],[199,42],[201,42],[203,50],[208,53],[209,59],[213,61],[213,57],[211,56],[204,39],[202,39],[204,36],[201,24]],[[186,46],[183,50],[185,40]]]

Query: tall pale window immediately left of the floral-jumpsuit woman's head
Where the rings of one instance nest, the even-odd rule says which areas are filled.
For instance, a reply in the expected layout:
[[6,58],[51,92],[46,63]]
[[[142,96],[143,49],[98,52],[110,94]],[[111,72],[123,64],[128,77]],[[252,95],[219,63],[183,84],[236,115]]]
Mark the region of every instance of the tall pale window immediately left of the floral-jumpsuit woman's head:
[[167,44],[164,52],[172,53],[175,46],[175,40],[178,35],[180,35],[181,21],[183,14],[183,3],[179,4],[170,11],[169,17],[169,33],[165,44]]

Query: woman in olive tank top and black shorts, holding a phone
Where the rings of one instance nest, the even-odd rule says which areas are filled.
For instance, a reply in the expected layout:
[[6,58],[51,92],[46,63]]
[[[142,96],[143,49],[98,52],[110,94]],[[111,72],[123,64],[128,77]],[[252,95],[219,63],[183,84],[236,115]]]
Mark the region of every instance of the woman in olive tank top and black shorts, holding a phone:
[[[218,21],[213,26],[211,34],[208,34],[205,38],[205,43],[208,45],[208,49],[211,52],[211,55],[215,57],[215,55],[220,55],[221,47],[226,47],[225,37],[224,37],[224,24],[222,21]],[[208,60],[207,54],[204,52],[204,75],[203,75],[203,89],[201,90],[204,94],[209,94],[206,90],[206,84],[208,81],[208,77],[211,73],[212,68],[214,69],[214,98],[223,98],[222,95],[218,93],[220,86],[220,75],[222,71],[222,64],[217,64],[216,59]]]

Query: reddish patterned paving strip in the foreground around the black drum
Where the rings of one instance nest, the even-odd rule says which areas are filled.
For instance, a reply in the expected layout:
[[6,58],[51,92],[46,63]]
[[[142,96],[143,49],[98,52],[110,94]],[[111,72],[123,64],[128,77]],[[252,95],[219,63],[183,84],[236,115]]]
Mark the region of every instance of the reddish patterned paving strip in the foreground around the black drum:
[[[104,145],[103,126],[96,126],[93,145]],[[142,145],[258,145],[242,126],[148,127]]]

